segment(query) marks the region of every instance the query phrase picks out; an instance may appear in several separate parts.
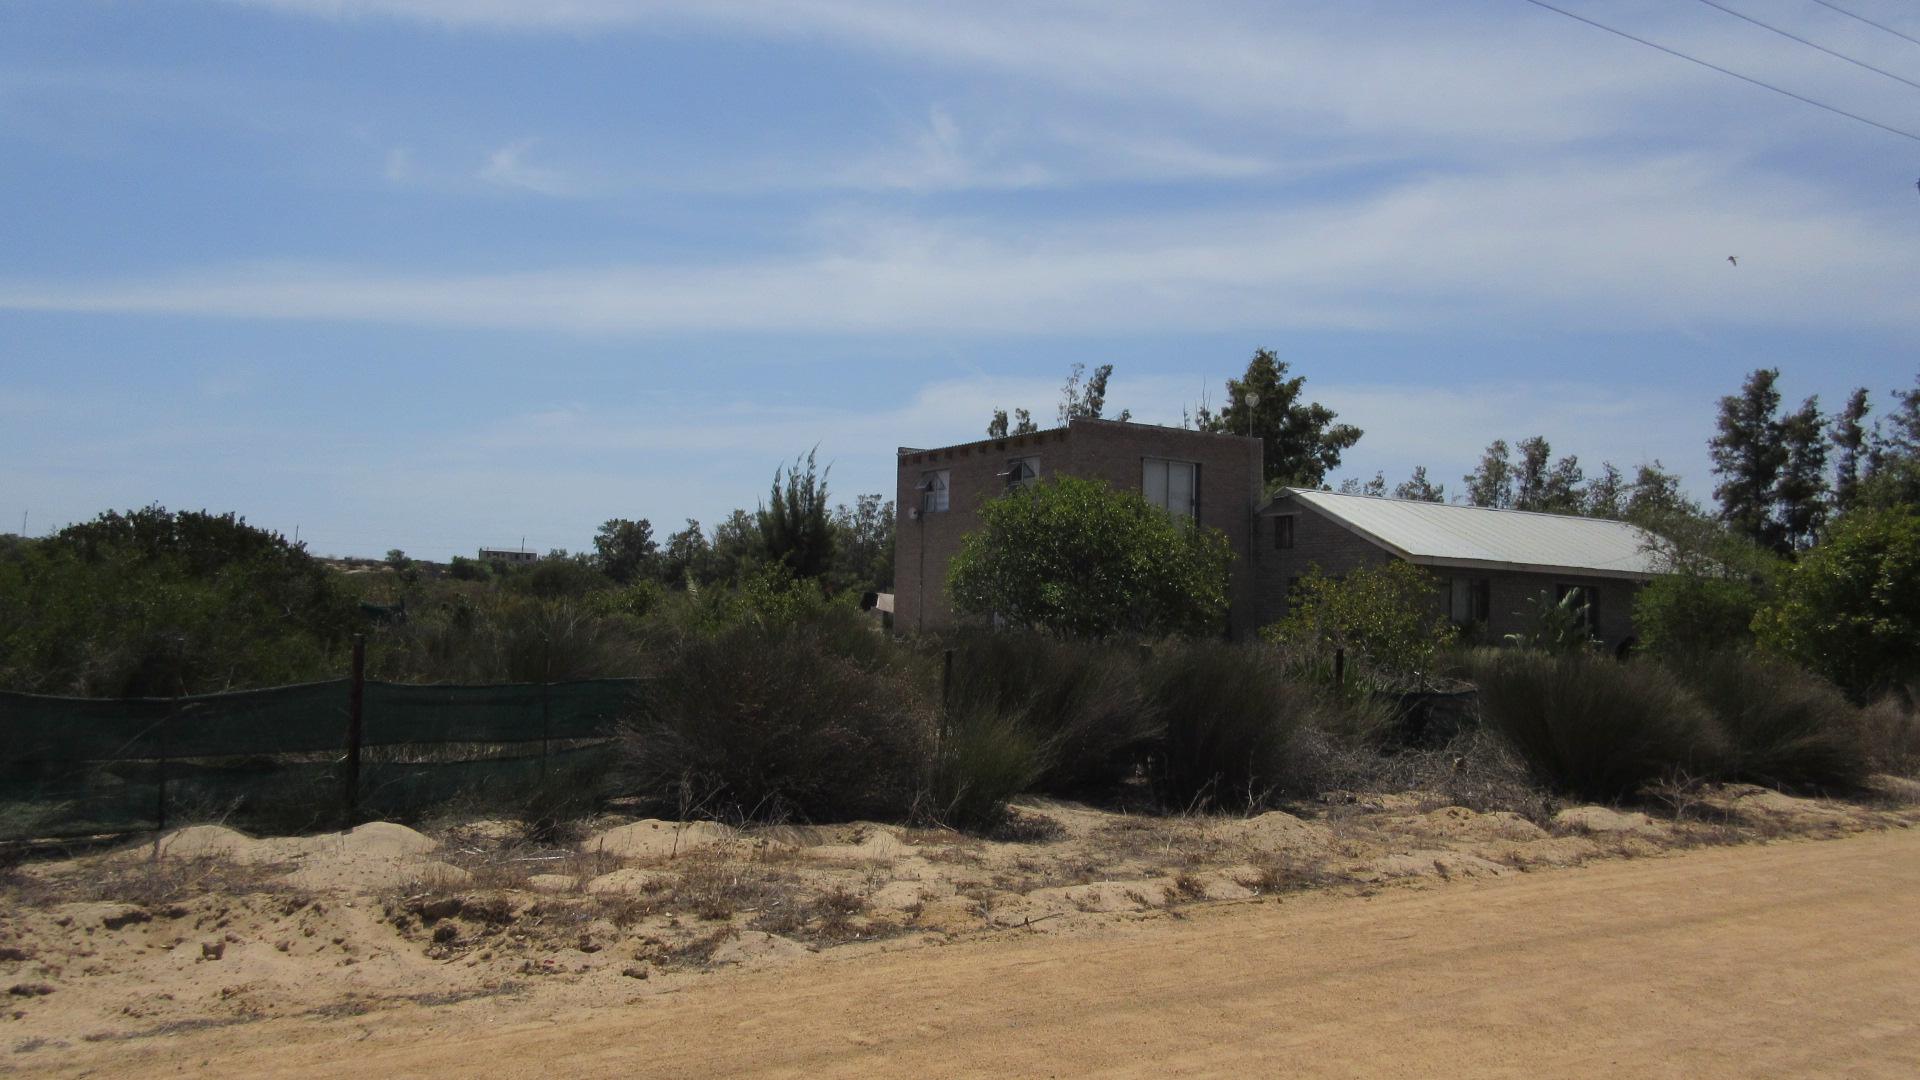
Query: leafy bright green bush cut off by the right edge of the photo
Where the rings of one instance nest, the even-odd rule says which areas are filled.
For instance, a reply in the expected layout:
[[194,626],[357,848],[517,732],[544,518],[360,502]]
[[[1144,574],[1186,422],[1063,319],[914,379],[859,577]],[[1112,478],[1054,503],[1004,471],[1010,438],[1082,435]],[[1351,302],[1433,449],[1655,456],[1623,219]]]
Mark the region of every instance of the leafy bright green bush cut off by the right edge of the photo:
[[1784,575],[1761,644],[1859,700],[1920,676],[1920,509],[1857,509]]

